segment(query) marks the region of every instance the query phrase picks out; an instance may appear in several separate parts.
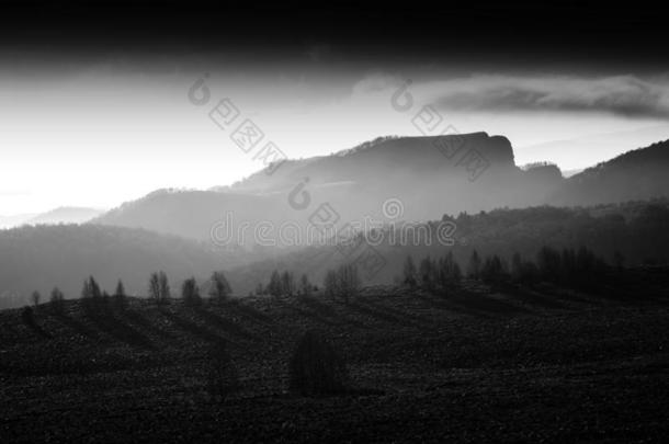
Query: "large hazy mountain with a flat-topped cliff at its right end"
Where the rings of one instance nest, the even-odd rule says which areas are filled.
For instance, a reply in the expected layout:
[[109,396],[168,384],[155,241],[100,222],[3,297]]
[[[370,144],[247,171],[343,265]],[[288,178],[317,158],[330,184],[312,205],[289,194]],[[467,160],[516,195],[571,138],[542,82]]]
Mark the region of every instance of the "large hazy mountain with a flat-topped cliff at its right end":
[[304,232],[324,204],[341,223],[365,217],[387,221],[388,200],[399,202],[393,217],[427,220],[445,212],[540,204],[562,180],[557,169],[528,172],[515,167],[510,141],[486,133],[378,138],[269,171],[224,189],[151,193],[94,223],[211,240],[228,214],[236,235],[245,224],[261,221],[275,231],[288,224]]

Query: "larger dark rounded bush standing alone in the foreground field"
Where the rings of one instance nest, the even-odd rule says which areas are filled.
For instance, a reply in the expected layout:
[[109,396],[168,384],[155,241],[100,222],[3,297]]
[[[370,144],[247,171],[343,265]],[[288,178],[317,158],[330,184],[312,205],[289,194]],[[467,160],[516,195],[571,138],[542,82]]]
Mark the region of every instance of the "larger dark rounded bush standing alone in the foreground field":
[[344,390],[345,363],[324,335],[307,331],[291,357],[291,390],[303,396],[332,395]]

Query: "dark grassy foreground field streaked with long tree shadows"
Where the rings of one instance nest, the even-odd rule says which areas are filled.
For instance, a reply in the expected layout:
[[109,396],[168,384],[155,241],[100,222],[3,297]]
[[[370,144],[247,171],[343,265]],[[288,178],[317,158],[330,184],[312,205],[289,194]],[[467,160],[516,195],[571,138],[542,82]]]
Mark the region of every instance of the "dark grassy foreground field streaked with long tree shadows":
[[[514,294],[510,294],[514,293]],[[643,300],[639,300],[643,299]],[[68,301],[0,312],[0,442],[659,442],[669,435],[669,305],[544,288],[368,288],[350,304],[256,298],[125,312]],[[355,390],[287,392],[307,329]],[[224,338],[241,388],[206,391]]]

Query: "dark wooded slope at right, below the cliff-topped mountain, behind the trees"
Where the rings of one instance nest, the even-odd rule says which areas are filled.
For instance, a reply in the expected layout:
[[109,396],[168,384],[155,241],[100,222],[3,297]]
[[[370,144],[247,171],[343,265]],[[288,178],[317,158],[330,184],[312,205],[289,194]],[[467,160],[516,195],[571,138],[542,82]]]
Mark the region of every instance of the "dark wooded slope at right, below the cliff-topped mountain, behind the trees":
[[[452,246],[439,242],[438,227],[444,221],[456,226]],[[440,258],[453,253],[464,271],[473,250],[477,250],[481,257],[499,254],[510,264],[514,252],[534,260],[544,246],[558,249],[587,247],[610,264],[614,263],[616,252],[622,254],[625,265],[669,263],[669,234],[666,230],[669,226],[669,200],[583,208],[537,206],[495,209],[474,215],[446,215],[441,223],[432,220],[415,225],[413,228],[406,227],[407,232],[422,234],[422,237],[416,240],[408,238],[411,240],[406,242],[398,242],[400,236],[393,236],[389,231],[370,238],[373,239],[375,254],[382,258],[377,271],[359,261],[367,249],[367,243],[363,241],[355,243],[359,247],[347,250],[331,246],[305,248],[271,260],[233,267],[228,277],[236,291],[246,294],[253,291],[258,283],[267,284],[275,269],[292,271],[296,276],[304,273],[313,282],[321,283],[327,270],[359,261],[365,284],[388,284],[401,275],[407,255],[411,255],[418,264],[420,259],[428,255]]]

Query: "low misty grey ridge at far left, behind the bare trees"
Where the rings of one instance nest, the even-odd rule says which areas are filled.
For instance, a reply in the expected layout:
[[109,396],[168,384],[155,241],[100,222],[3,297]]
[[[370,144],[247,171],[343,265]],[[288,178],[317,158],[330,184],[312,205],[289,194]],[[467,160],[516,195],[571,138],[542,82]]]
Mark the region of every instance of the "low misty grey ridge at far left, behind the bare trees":
[[110,293],[122,278],[127,292],[145,294],[158,270],[178,293],[183,278],[228,267],[226,258],[202,243],[140,229],[87,224],[0,230],[0,306],[25,304],[33,291],[46,299],[54,286],[78,297],[89,275]]

